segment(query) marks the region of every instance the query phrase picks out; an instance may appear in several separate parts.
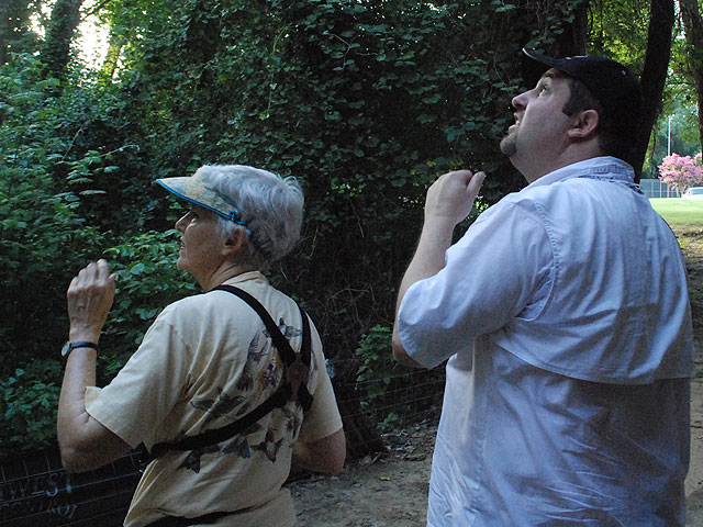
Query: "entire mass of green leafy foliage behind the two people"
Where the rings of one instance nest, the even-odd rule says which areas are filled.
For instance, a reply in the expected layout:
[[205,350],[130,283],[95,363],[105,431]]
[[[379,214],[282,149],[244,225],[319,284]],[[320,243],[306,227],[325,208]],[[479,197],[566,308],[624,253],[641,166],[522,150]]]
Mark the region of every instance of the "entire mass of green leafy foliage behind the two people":
[[[381,349],[392,324],[427,186],[483,169],[480,209],[522,184],[498,150],[520,48],[548,43],[578,3],[114,0],[101,5],[123,49],[113,78],[75,63],[44,79],[36,57],[13,56],[0,67],[0,436],[26,426],[35,446],[49,440],[65,292],[88,261],[118,274],[101,383],[164,306],[197,291],[175,268],[170,202],[153,181],[205,162],[300,179],[303,239],[272,280],[302,299],[337,381],[355,382],[369,358],[355,350]],[[37,359],[48,366],[30,368]]]

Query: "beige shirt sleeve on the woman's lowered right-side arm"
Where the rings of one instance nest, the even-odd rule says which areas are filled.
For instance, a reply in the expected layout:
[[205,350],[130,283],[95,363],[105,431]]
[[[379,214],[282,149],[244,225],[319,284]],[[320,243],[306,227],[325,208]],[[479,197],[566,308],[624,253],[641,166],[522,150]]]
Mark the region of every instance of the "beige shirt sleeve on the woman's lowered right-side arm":
[[315,363],[319,365],[317,381],[312,394],[313,401],[310,412],[304,416],[298,439],[303,442],[312,442],[327,437],[342,429],[342,417],[337,408],[337,402],[332,389],[332,381],[327,374],[325,357],[322,352],[322,343],[316,329],[311,324],[312,348]]

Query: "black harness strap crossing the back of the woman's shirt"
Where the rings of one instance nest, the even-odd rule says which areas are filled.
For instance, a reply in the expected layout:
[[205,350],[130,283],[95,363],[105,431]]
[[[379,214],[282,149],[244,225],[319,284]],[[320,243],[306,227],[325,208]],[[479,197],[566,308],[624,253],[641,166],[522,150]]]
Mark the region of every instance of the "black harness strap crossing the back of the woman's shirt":
[[283,379],[281,380],[281,384],[278,390],[276,390],[276,392],[270,397],[268,397],[248,414],[221,428],[205,430],[197,436],[185,437],[183,439],[175,442],[159,442],[157,445],[154,445],[149,452],[150,459],[158,458],[159,456],[166,453],[168,450],[196,450],[230,439],[249,428],[274,408],[282,407],[288,401],[293,397],[295,397],[298,403],[302,406],[303,412],[310,410],[310,406],[312,405],[313,397],[308,391],[306,385],[308,379],[310,377],[311,358],[310,322],[302,307],[298,306],[303,321],[303,341],[301,352],[299,355],[295,354],[290,347],[290,343],[281,333],[278,325],[276,325],[276,322],[274,322],[274,318],[271,318],[271,315],[268,313],[268,311],[266,311],[261,303],[249,293],[232,285],[220,285],[217,288],[214,288],[213,291],[227,291],[232,294],[235,294],[244,302],[246,302],[254,311],[256,311],[256,313],[264,322],[264,325],[268,329],[268,333],[271,336],[271,340],[274,341],[274,346],[283,360]]

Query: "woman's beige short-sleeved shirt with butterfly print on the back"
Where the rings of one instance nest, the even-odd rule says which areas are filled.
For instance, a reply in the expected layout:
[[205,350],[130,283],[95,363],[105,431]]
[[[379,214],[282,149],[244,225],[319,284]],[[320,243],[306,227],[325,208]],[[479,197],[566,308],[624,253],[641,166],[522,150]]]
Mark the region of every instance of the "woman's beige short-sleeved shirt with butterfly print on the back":
[[[290,298],[257,271],[225,283],[255,296],[300,351],[300,312]],[[314,401],[304,421],[302,410],[288,403],[220,445],[161,456],[146,468],[125,526],[221,511],[238,514],[217,525],[295,525],[292,500],[281,489],[293,442],[342,428],[312,324],[311,333],[308,388]],[[150,448],[232,423],[268,399],[281,375],[281,359],[256,312],[232,293],[213,291],[166,307],[115,379],[102,390],[87,389],[86,408],[131,446]]]

